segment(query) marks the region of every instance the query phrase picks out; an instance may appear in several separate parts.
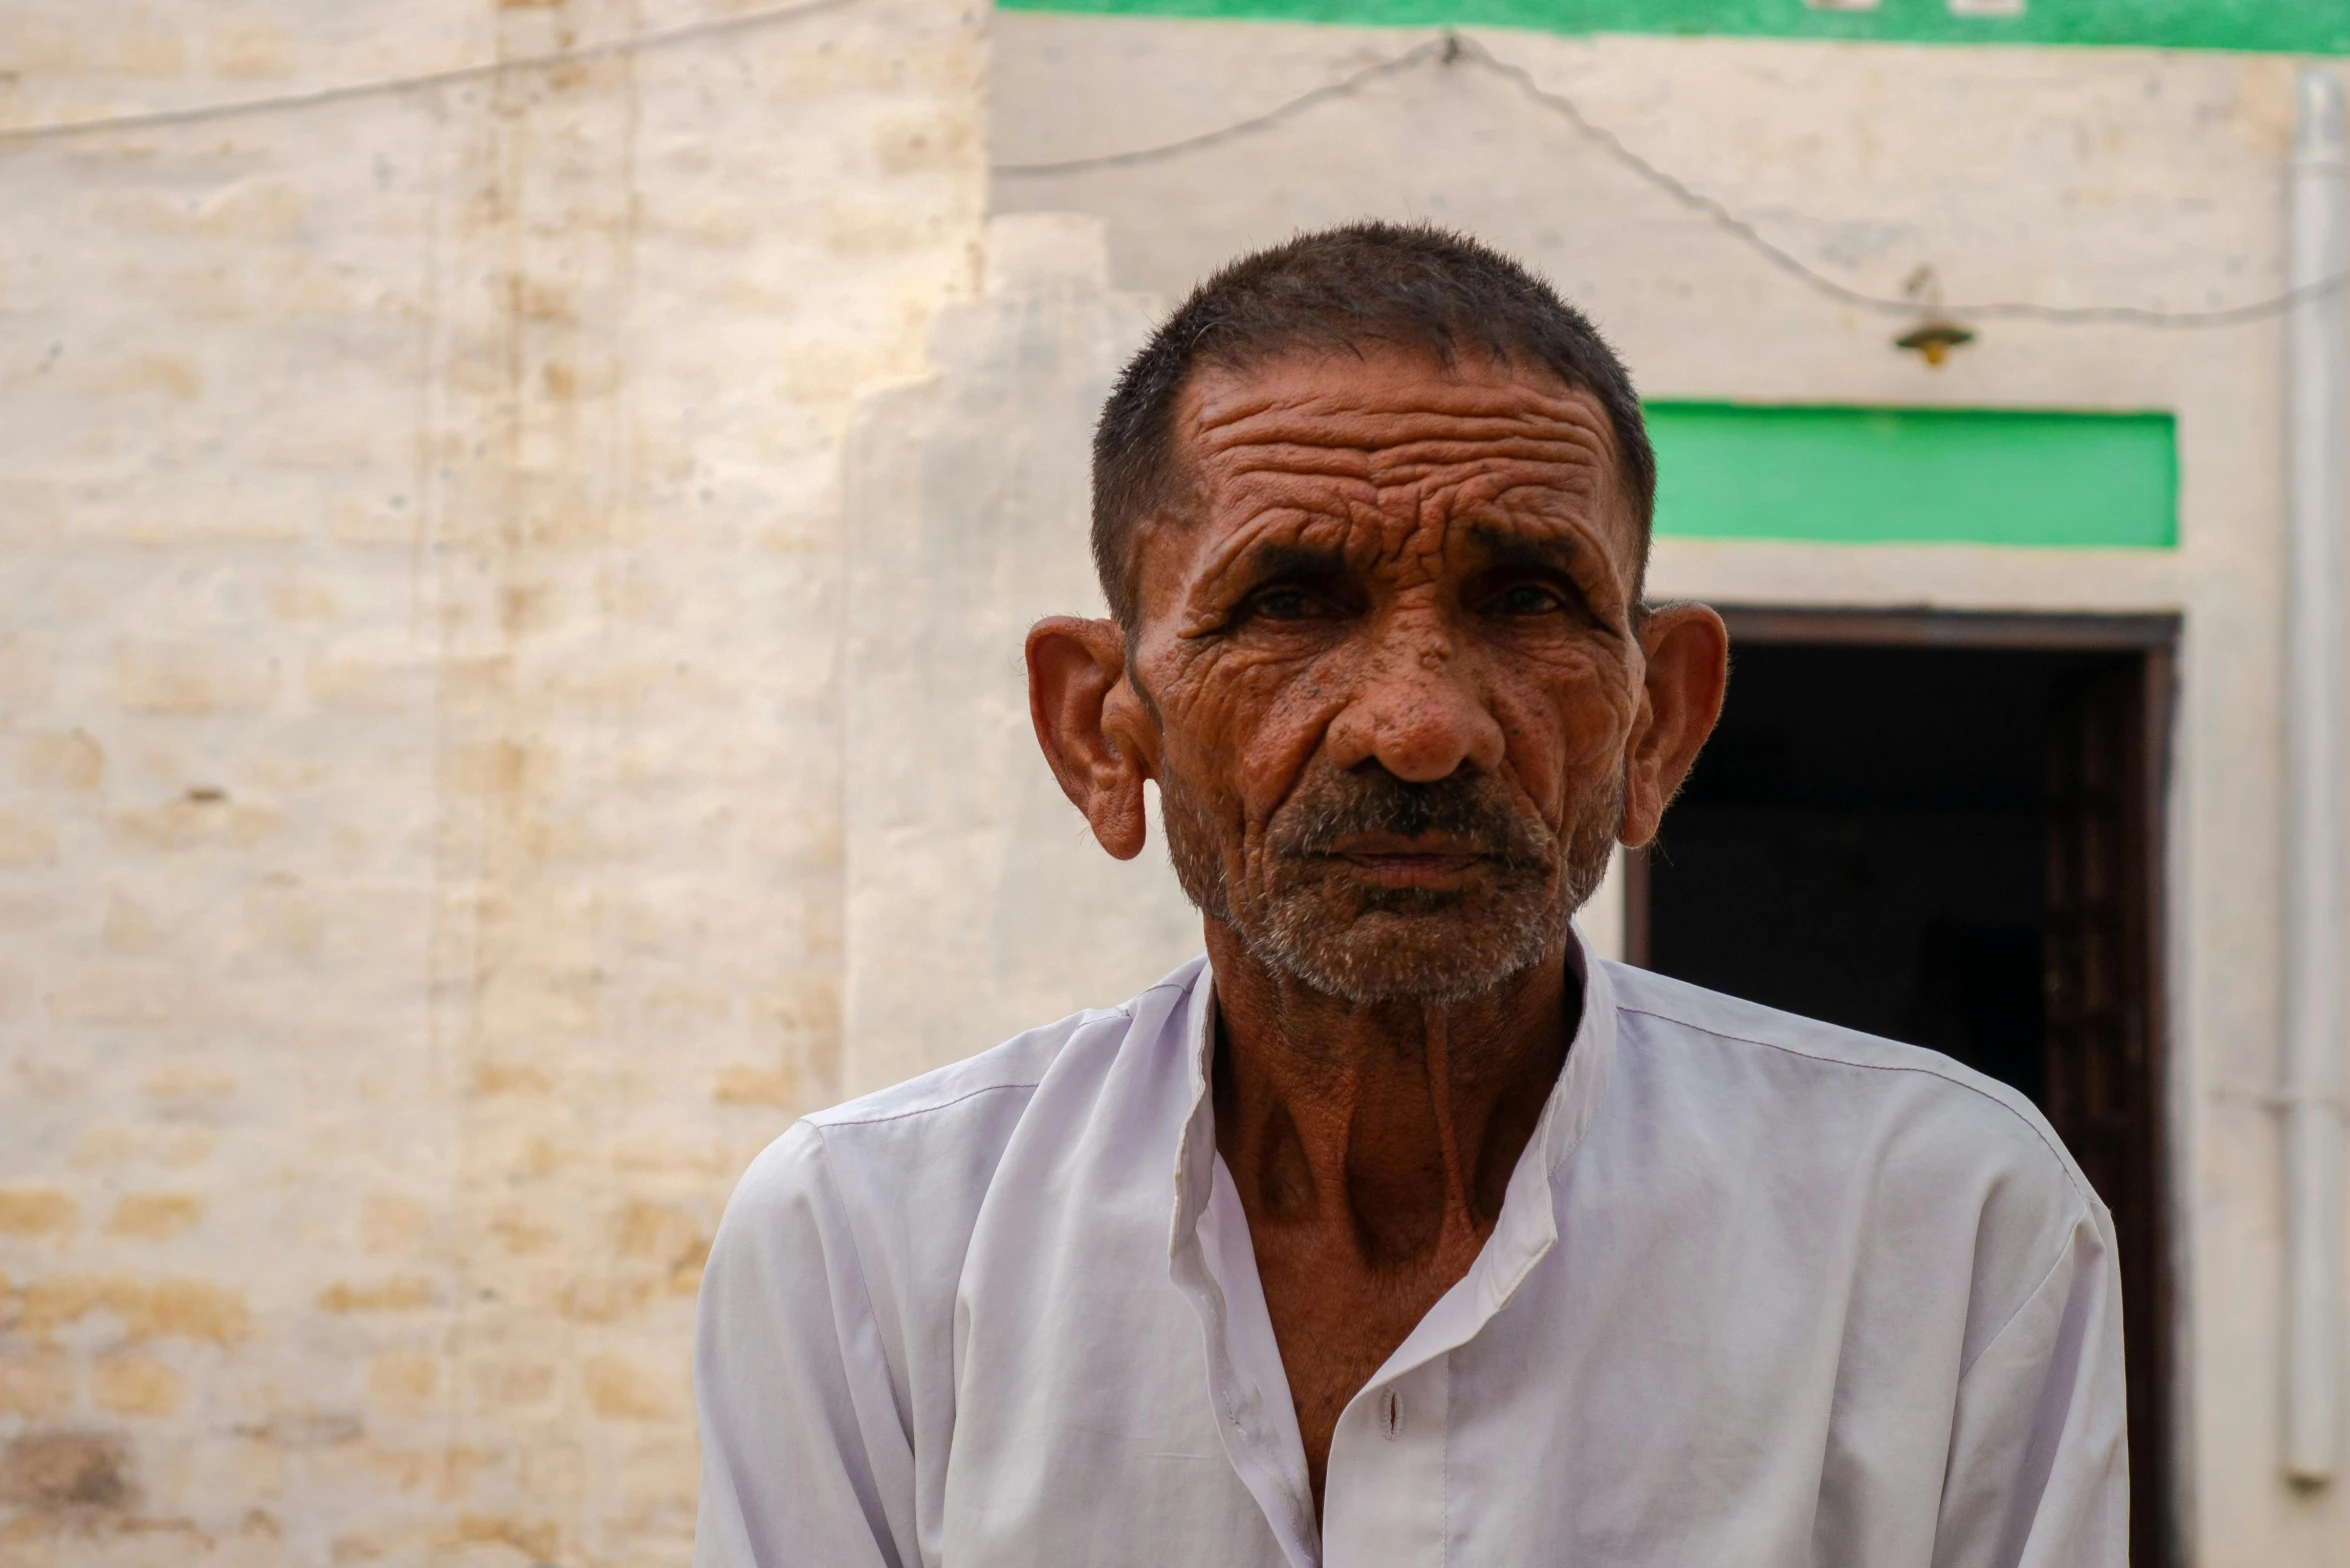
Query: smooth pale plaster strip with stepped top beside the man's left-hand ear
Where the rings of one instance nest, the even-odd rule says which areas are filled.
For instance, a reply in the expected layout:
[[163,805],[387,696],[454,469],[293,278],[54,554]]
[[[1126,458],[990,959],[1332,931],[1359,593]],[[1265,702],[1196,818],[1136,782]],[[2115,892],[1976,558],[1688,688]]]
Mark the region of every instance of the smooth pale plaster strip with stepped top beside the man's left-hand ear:
[[987,244],[935,374],[865,400],[848,442],[851,1093],[1114,1006],[1198,950],[1156,835],[1121,865],[1062,799],[1022,668],[1041,616],[1104,614],[1088,437],[1154,301],[1109,287],[1100,219],[996,219]]

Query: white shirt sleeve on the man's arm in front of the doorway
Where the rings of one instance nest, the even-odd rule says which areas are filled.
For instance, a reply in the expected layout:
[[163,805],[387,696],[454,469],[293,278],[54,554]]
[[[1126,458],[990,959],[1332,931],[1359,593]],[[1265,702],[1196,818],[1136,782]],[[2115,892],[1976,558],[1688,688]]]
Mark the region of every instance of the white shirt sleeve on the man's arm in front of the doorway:
[[1960,1375],[1934,1568],[2127,1568],[2122,1276],[2094,1201]]

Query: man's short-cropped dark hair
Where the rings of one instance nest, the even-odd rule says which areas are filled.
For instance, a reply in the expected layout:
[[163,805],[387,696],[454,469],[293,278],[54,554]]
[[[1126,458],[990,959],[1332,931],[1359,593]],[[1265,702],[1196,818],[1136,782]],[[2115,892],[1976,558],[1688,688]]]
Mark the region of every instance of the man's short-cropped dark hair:
[[[1657,454],[1631,374],[1582,310],[1502,252],[1434,223],[1344,223],[1241,256],[1191,289],[1119,376],[1093,428],[1093,569],[1128,637],[1135,524],[1180,477],[1175,404],[1201,364],[1246,369],[1290,350],[1410,346],[1450,362],[1478,350],[1539,367],[1607,414],[1640,574],[1657,512]],[[1638,595],[1638,588],[1636,588]]]

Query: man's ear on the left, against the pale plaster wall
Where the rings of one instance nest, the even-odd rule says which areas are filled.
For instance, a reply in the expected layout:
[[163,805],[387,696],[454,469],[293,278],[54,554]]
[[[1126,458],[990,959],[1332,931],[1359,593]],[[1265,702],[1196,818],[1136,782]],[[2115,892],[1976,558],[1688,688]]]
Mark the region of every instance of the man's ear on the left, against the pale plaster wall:
[[1119,860],[1142,853],[1149,778],[1126,637],[1112,621],[1050,616],[1029,628],[1029,717],[1053,778]]

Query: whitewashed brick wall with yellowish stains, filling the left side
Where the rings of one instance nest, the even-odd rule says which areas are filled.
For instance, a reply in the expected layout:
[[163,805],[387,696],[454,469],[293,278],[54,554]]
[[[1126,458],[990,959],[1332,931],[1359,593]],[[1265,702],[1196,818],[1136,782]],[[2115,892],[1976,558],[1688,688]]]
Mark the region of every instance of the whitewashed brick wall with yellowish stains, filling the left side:
[[[0,125],[684,0],[16,0]],[[0,139],[0,1561],[682,1563],[698,1262],[834,1098],[860,388],[980,14]]]

